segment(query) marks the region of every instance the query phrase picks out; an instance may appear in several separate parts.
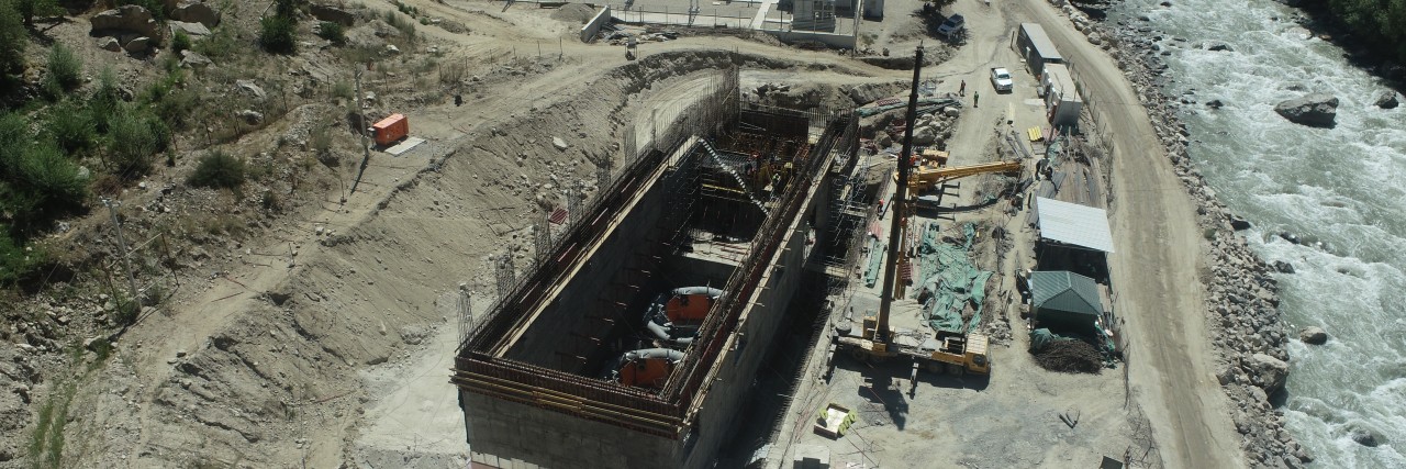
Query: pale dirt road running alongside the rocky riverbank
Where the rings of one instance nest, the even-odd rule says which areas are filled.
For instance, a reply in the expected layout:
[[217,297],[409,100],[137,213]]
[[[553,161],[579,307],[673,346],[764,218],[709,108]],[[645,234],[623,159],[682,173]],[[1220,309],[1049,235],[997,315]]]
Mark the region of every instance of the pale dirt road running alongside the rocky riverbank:
[[1205,324],[1201,233],[1195,208],[1173,173],[1132,84],[1102,51],[1045,1],[1005,3],[1038,21],[1099,104],[1095,119],[1112,136],[1115,310],[1132,333],[1135,393],[1154,425],[1170,468],[1243,466],[1226,397],[1213,375]]

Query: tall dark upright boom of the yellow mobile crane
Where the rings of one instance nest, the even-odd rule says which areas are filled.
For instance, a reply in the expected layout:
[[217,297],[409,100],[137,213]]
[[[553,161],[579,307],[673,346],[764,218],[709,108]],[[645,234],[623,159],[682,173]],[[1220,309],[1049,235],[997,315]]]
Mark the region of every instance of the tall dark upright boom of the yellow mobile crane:
[[[908,159],[912,156],[912,124],[918,121],[918,73],[922,70],[922,44],[912,56],[912,91],[908,93],[907,125],[903,129],[903,152],[898,153],[898,184],[893,190],[893,199],[889,201],[889,212],[893,225],[889,227],[889,253],[884,258],[883,293],[879,298],[879,317],[875,322],[875,348],[889,344],[889,312],[893,309],[893,289],[898,274],[898,256],[903,250],[903,223],[907,216],[907,188],[908,188]],[[883,344],[883,345],[880,345]]]

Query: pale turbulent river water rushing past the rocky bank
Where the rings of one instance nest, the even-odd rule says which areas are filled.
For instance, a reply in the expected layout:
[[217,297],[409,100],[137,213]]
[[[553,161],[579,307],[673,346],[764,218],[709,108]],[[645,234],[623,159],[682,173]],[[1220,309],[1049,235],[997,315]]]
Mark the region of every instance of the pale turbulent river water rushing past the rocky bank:
[[[1166,35],[1174,77],[1166,93],[1225,103],[1182,117],[1195,140],[1189,153],[1219,198],[1254,225],[1251,249],[1296,270],[1279,275],[1291,331],[1319,326],[1331,337],[1289,345],[1289,431],[1319,468],[1406,468],[1406,105],[1372,105],[1382,84],[1341,49],[1308,38],[1278,3],[1159,3],[1128,0],[1109,20]],[[1209,41],[1233,51],[1195,48]],[[1288,90],[1295,84],[1339,97],[1336,128],[1274,112],[1305,93]],[[1294,244],[1281,232],[1323,246]],[[1386,442],[1360,445],[1354,428]]]

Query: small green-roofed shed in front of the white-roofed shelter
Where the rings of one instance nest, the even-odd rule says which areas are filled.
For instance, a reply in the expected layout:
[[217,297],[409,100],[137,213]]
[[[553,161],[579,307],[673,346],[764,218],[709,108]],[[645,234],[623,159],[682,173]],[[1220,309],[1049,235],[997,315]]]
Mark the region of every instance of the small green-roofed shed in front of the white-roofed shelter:
[[1031,296],[1036,327],[1092,331],[1094,322],[1104,313],[1098,284],[1069,271],[1031,272]]

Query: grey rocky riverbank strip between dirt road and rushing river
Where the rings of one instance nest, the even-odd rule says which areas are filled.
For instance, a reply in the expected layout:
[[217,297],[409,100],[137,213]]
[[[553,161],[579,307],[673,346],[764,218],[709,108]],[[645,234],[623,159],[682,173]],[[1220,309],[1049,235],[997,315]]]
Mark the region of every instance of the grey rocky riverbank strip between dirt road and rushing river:
[[[1062,1],[1052,1],[1059,6]],[[1312,456],[1284,428],[1274,396],[1288,376],[1288,340],[1278,312],[1278,285],[1271,267],[1253,254],[1237,233],[1247,227],[1216,198],[1188,156],[1189,132],[1178,118],[1181,103],[1166,95],[1161,80],[1167,65],[1164,35],[1139,24],[1111,24],[1091,20],[1083,11],[1062,6],[1091,44],[1105,49],[1132,81],[1140,103],[1152,117],[1177,177],[1197,205],[1204,233],[1199,277],[1206,289],[1206,316],[1216,355],[1216,379],[1234,404],[1232,421],[1250,466],[1296,468]],[[1175,39],[1174,39],[1175,41]],[[1185,46],[1191,42],[1175,41]]]

